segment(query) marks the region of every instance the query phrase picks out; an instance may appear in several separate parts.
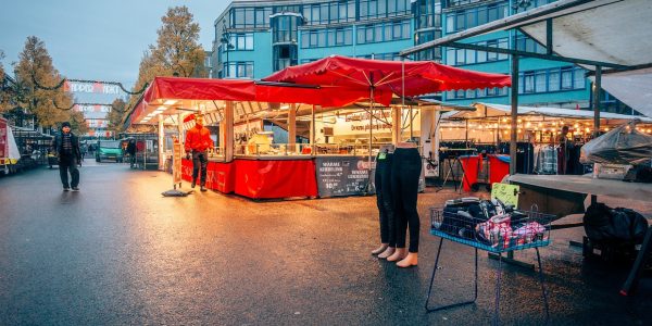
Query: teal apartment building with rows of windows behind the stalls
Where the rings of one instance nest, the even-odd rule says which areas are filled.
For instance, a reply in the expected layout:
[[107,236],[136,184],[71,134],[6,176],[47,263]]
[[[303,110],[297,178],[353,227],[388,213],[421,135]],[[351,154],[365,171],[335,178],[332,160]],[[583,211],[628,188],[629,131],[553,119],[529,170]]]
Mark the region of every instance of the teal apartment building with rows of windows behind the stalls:
[[[554,0],[236,0],[215,20],[211,76],[259,79],[330,54],[401,60],[415,45],[473,28]],[[482,46],[546,49],[517,32],[499,32],[466,40]],[[435,60],[466,70],[510,73],[506,54],[429,49],[410,58]],[[522,105],[589,109],[590,82],[577,65],[540,59],[521,60]],[[437,95],[447,102],[507,104],[504,89],[475,89]],[[603,95],[603,110],[631,109]]]

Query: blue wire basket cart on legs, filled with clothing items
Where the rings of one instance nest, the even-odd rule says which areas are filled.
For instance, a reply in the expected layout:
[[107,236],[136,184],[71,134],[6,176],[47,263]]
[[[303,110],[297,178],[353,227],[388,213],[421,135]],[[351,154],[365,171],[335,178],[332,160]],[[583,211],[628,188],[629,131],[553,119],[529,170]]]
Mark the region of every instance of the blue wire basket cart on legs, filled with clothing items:
[[[462,203],[464,204],[464,203]],[[505,252],[516,250],[531,249],[537,252],[537,262],[539,268],[539,283],[541,286],[541,296],[543,299],[543,310],[546,313],[546,323],[550,318],[548,293],[543,280],[543,268],[541,267],[541,255],[539,248],[550,244],[550,223],[554,215],[538,212],[534,205],[530,211],[514,210],[512,212],[499,211],[490,218],[474,217],[478,214],[471,214],[464,211],[464,208],[455,205],[446,208],[430,208],[430,234],[440,238],[435,266],[428,287],[428,297],[426,299],[426,311],[435,312],[451,308],[462,306],[475,303],[478,298],[478,250],[493,253],[498,256],[498,269],[496,273],[496,297],[493,325],[500,323],[500,293],[501,293],[501,274],[502,256]],[[485,211],[486,214],[486,211]],[[486,215],[485,215],[486,216]],[[475,249],[475,269],[474,269],[474,296],[471,300],[450,303],[439,306],[430,306],[430,294],[435,275],[439,267],[439,256],[443,240],[462,243]]]

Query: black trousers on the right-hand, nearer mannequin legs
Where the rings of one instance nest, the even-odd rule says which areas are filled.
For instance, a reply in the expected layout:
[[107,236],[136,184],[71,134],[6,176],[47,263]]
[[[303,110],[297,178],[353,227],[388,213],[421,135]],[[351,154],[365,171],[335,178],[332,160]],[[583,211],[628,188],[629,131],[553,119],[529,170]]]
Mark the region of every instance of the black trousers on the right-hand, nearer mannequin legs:
[[396,202],[397,248],[405,248],[405,233],[410,226],[410,252],[418,252],[421,223],[416,211],[418,178],[422,160],[416,148],[398,148],[391,165],[391,193]]

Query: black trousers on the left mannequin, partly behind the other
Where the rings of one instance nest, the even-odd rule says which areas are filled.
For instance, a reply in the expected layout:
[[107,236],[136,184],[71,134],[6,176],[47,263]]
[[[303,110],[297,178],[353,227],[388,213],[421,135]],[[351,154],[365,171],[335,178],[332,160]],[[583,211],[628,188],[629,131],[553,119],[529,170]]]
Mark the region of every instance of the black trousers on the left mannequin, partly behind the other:
[[392,156],[390,153],[378,154],[374,179],[376,184],[376,205],[378,206],[378,216],[380,220],[380,242],[396,247],[397,233],[390,181]]

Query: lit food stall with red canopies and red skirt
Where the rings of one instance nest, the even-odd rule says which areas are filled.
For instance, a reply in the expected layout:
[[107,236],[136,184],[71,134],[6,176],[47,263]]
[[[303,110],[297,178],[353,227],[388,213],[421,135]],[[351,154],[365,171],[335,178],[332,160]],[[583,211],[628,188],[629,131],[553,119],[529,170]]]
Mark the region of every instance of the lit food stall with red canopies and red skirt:
[[[329,63],[333,60],[334,58],[327,58],[318,62]],[[411,103],[410,99],[401,99],[398,103],[396,99],[392,102],[392,98],[401,93],[414,96],[474,86],[504,86],[510,83],[509,76],[466,72],[431,62],[351,60],[347,59],[344,67],[331,65],[326,68],[328,72],[349,76],[352,75],[351,72],[378,76],[379,83],[374,85],[372,95],[368,87],[327,84],[319,78],[312,83],[310,78],[266,78],[264,82],[253,82],[158,77],[146,90],[126,123],[158,124],[160,130],[166,125],[175,125],[183,141],[185,129],[193,126],[190,121],[184,123],[184,117],[197,112],[204,114],[209,127],[213,126],[215,134],[218,134],[214,139],[218,146],[211,151],[208,167],[206,186],[210,189],[234,191],[248,198],[328,196],[328,191],[324,189],[331,187],[335,181],[321,174],[328,168],[317,167],[338,167],[333,159],[327,160],[329,156],[337,156],[340,167],[343,164],[349,167],[354,164],[356,168],[348,171],[353,178],[363,180],[359,180],[361,184],[352,186],[353,188],[342,185],[350,191],[329,193],[368,193],[373,190],[369,187],[369,171],[373,168],[371,156],[374,155],[374,150],[383,143],[406,139],[402,134],[405,126],[411,128],[410,137],[414,136],[412,121],[415,120],[415,112],[412,108],[427,106],[437,110],[441,106]],[[292,68],[297,67],[301,66]],[[310,74],[306,71],[305,75]],[[418,83],[415,83],[416,76]],[[398,87],[399,84],[404,84],[405,90]],[[340,120],[346,121],[354,114],[361,115],[359,120],[367,121],[362,128],[368,133],[368,137],[354,138],[353,143],[348,143],[341,138],[346,135],[334,133],[334,129],[340,124]],[[400,124],[392,123],[393,121],[408,122]],[[287,129],[286,141],[271,139],[274,133],[269,129],[278,126]],[[385,134],[385,139],[374,139],[374,131],[380,129],[388,129],[389,133],[381,133]],[[302,138],[301,135],[306,136],[306,142],[298,141]],[[164,143],[160,139],[162,155],[166,152]],[[366,158],[366,162],[360,158]],[[184,178],[189,179],[191,163],[183,162],[181,165],[185,166]],[[364,177],[360,171],[364,172]],[[338,171],[339,176],[342,175],[340,172],[343,172],[343,167]],[[326,185],[318,187],[319,180]]]

